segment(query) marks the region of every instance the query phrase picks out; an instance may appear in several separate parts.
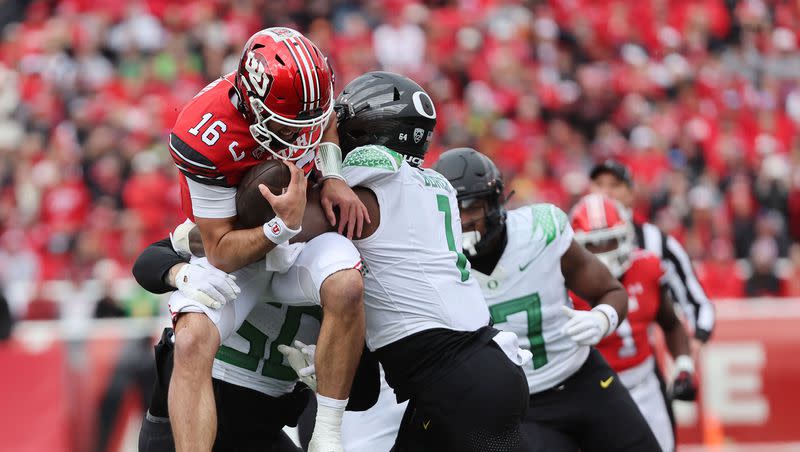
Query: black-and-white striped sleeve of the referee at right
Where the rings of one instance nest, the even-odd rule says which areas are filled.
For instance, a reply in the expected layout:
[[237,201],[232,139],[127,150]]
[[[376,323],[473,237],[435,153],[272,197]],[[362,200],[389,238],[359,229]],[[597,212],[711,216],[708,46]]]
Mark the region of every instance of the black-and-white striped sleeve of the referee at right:
[[674,269],[674,274],[668,275],[673,296],[694,327],[695,337],[702,342],[708,341],[714,330],[714,306],[694,274],[689,255],[675,238],[665,236],[663,256]]

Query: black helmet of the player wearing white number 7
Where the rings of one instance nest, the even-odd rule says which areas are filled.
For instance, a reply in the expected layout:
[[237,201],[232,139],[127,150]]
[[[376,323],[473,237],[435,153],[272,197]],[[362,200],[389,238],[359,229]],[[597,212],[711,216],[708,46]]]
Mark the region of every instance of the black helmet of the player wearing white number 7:
[[[468,207],[475,199],[487,201],[488,210],[484,217],[486,236],[480,238],[471,254],[484,253],[488,250],[488,245],[502,236],[506,221],[506,197],[500,170],[489,157],[472,148],[456,148],[444,152],[433,165],[433,169],[447,178],[456,189],[460,207]],[[467,229],[468,226],[462,227]]]

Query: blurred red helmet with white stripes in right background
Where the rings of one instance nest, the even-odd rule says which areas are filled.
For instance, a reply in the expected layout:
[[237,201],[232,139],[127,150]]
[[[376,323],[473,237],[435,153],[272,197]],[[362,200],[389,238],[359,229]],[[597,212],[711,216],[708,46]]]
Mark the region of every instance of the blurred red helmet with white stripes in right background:
[[628,210],[599,193],[584,196],[570,211],[575,241],[592,251],[614,277],[631,266],[635,232]]

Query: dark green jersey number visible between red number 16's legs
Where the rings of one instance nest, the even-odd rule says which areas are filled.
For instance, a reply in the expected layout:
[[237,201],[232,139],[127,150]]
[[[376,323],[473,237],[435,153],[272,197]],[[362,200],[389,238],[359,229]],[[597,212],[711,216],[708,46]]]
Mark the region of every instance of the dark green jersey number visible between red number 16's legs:
[[[278,332],[278,337],[273,339],[270,345],[269,358],[264,360],[261,375],[283,381],[292,381],[297,378],[297,373],[295,373],[294,369],[283,364],[283,354],[278,351],[278,345],[292,344],[297,331],[300,329],[300,319],[303,314],[310,315],[317,320],[322,319],[317,307],[289,306],[286,309],[286,318],[283,321],[280,332]],[[259,361],[264,358],[264,350],[267,348],[269,337],[247,320],[244,321],[236,333],[250,344],[249,351],[244,353],[234,348],[220,345],[219,351],[217,351],[217,359],[255,372],[258,369]]]

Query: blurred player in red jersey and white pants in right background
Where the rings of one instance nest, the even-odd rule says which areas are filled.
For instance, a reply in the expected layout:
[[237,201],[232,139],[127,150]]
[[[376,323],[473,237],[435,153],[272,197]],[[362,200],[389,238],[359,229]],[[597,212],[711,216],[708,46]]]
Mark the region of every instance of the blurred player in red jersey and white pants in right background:
[[618,372],[661,449],[671,452],[675,438],[648,334],[653,323],[661,327],[675,358],[672,396],[694,400],[697,388],[689,336],[668,296],[667,272],[657,255],[636,248],[633,223],[619,202],[601,194],[585,196],[572,208],[570,219],[575,240],[593,252],[628,291],[628,317],[597,349]]

